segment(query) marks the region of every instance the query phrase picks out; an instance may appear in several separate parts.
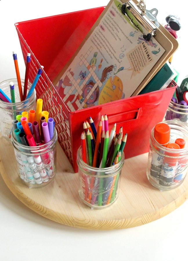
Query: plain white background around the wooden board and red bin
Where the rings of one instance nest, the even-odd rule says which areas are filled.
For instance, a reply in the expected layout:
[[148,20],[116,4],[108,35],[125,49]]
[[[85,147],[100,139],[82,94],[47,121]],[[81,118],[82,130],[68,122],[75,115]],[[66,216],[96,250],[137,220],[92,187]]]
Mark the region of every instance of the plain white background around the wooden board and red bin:
[[[17,53],[21,78],[25,76],[14,23],[107,3],[106,0],[0,0],[0,82],[16,77],[12,51]],[[148,10],[158,9],[160,23],[166,14],[180,16],[180,47],[172,64],[180,73],[178,83],[181,83],[188,74],[185,26],[188,3],[148,0],[146,5]],[[143,226],[113,231],[83,230],[55,223],[31,211],[17,200],[0,177],[0,260],[3,261],[186,260],[187,234],[188,201],[169,215]]]

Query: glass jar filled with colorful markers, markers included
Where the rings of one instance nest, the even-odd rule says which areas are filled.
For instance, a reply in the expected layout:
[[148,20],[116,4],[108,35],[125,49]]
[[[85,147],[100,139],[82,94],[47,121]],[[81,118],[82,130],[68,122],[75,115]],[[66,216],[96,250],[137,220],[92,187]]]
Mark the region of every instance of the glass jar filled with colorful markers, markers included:
[[57,131],[53,118],[42,111],[42,99],[28,118],[13,123],[11,137],[21,181],[28,187],[48,185],[56,174]]

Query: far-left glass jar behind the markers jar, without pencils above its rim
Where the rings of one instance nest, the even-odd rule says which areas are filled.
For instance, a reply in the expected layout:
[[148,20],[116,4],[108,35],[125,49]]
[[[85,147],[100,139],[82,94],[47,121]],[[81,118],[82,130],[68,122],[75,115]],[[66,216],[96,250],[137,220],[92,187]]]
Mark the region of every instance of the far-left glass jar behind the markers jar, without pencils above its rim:
[[[24,80],[21,79],[21,89],[24,91]],[[32,86],[28,82],[28,90]],[[0,129],[1,134],[11,141],[12,121],[23,111],[29,112],[36,109],[36,91],[32,91],[30,97],[21,99],[20,88],[17,79],[9,79],[0,83]]]

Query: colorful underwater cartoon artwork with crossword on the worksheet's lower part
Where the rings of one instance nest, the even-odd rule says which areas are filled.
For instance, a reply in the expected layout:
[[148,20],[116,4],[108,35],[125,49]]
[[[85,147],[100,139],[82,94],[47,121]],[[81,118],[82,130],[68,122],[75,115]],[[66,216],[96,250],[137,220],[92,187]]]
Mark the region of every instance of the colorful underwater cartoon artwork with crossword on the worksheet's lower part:
[[64,79],[59,80],[56,86],[60,97],[72,111],[124,97],[122,80],[116,75],[124,67],[104,67],[106,63],[99,55],[97,62],[97,55],[97,52],[93,52],[93,47],[90,47],[86,55],[80,56],[76,70],[69,68]]

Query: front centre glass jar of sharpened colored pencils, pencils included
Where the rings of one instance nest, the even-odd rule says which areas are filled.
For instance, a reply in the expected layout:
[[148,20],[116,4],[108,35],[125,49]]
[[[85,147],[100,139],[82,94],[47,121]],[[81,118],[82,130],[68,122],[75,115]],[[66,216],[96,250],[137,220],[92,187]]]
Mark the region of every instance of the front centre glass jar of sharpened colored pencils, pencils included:
[[116,133],[116,123],[110,131],[106,114],[97,129],[91,117],[83,129],[77,151],[79,196],[91,208],[105,208],[119,195],[127,133],[123,137],[122,127]]

